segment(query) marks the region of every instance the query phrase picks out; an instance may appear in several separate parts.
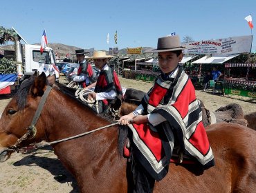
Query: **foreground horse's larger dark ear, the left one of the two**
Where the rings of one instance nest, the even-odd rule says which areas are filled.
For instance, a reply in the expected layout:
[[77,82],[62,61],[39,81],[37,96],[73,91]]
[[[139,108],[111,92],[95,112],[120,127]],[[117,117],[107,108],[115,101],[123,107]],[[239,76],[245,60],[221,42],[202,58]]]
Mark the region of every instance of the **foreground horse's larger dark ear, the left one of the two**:
[[46,87],[47,79],[46,74],[42,72],[38,77],[35,77],[35,81],[31,88],[33,96],[43,96],[44,88]]

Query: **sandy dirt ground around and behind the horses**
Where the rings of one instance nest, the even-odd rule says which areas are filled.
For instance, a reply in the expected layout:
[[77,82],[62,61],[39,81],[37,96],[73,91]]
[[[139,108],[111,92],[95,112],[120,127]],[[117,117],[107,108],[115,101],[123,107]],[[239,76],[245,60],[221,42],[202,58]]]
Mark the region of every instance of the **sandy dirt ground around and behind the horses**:
[[[61,82],[64,81],[62,77]],[[152,83],[120,78],[125,88],[136,88],[147,92]],[[196,96],[211,111],[229,103],[238,103],[244,114],[256,111],[256,99],[241,96],[219,96],[210,92],[196,90]],[[0,114],[12,98],[0,95]],[[0,163],[0,193],[15,192],[78,192],[75,179],[62,166],[51,148],[37,150],[30,154],[14,153],[4,163]]]

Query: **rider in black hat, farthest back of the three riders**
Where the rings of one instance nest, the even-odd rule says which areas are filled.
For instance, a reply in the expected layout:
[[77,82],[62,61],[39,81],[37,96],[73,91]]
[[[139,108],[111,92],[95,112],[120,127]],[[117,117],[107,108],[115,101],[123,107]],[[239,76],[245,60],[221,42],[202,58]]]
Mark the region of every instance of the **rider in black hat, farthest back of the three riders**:
[[84,50],[75,50],[79,68],[77,70],[77,76],[73,78],[73,81],[79,83],[82,88],[86,88],[86,86],[95,82],[93,68],[86,62],[85,53]]

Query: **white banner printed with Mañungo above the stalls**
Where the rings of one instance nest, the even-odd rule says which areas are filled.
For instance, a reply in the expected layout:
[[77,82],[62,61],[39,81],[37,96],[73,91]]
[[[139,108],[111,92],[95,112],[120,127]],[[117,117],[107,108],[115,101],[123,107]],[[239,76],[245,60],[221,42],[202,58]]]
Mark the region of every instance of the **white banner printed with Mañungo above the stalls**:
[[183,43],[184,54],[241,54],[250,52],[253,35]]

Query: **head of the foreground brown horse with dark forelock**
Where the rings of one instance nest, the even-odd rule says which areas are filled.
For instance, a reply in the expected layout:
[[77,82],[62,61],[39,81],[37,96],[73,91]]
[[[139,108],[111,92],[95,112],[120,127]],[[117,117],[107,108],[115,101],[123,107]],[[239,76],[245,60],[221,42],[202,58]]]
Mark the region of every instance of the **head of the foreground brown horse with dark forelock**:
[[[41,96],[46,90],[47,79],[42,73],[26,79],[0,116],[0,161],[6,161],[17,148],[37,140],[30,124]],[[28,129],[30,128],[30,129]],[[30,131],[30,132],[29,132]],[[24,136],[27,134],[28,136]]]

